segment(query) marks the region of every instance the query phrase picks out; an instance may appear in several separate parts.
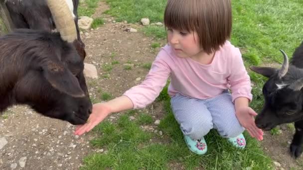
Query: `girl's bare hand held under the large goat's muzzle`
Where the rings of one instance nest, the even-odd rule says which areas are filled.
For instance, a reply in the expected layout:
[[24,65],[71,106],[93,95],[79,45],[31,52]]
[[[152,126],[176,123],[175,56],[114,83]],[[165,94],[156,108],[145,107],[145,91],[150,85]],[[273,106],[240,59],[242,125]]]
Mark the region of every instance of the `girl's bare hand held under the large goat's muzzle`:
[[89,116],[87,123],[85,123],[84,125],[78,125],[75,130],[75,135],[82,135],[85,132],[89,132],[110,113],[111,110],[107,103],[94,104],[92,113]]

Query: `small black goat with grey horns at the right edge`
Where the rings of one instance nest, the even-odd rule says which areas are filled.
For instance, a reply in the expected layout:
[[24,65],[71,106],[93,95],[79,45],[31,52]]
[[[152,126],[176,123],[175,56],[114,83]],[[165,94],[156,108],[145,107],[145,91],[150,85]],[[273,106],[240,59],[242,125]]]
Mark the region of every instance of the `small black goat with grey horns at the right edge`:
[[296,133],[290,150],[292,156],[298,158],[303,143],[303,42],[295,50],[290,65],[288,56],[281,52],[284,55],[281,69],[250,67],[269,78],[263,86],[265,103],[255,123],[261,129],[271,130],[279,124],[295,122]]

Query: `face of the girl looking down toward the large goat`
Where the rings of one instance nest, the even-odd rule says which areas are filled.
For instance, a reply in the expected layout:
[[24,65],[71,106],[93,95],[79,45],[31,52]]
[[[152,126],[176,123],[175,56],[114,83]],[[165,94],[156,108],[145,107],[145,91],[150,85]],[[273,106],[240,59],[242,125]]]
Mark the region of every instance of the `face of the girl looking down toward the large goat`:
[[180,31],[168,28],[167,39],[178,57],[192,57],[201,52],[197,32]]

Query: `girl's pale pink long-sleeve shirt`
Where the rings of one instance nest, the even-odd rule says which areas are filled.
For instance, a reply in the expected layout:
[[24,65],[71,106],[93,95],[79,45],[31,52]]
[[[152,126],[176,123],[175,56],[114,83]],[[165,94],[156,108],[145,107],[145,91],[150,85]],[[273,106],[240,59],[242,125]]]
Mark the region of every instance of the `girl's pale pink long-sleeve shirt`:
[[243,64],[240,50],[229,41],[216,51],[212,62],[207,65],[191,58],[179,58],[171,46],[165,45],[152,63],[146,79],[123,95],[132,100],[134,108],[143,108],[159,95],[169,76],[170,96],[180,93],[206,99],[230,89],[233,102],[237,97],[252,100],[250,77]]

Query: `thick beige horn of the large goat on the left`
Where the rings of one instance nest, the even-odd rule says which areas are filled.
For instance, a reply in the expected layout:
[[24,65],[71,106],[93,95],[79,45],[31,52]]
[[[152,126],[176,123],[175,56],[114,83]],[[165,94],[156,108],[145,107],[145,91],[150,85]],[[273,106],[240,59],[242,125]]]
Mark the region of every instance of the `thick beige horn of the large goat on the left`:
[[47,5],[61,38],[67,42],[73,42],[77,39],[76,25],[66,1],[47,0]]

